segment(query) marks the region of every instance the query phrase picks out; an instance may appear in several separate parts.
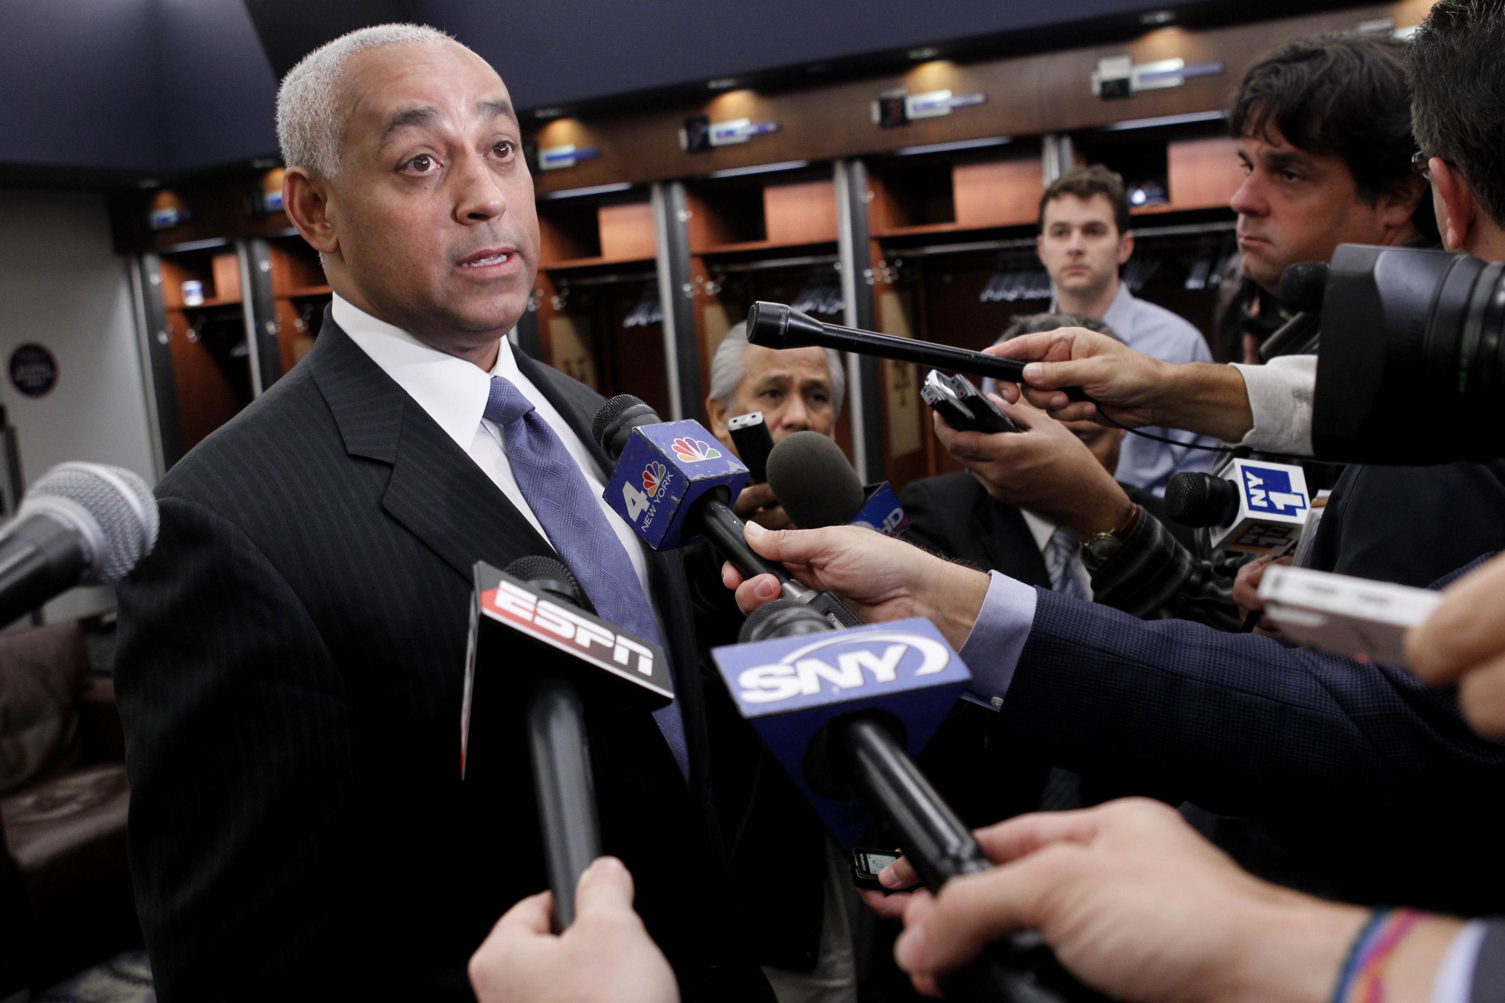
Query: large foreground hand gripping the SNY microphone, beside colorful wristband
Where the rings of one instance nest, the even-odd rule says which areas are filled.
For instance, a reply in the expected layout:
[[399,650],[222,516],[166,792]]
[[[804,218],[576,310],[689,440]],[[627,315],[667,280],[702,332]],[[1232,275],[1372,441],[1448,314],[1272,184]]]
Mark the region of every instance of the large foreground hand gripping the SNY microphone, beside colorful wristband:
[[[1002,866],[909,896],[894,953],[923,992],[987,943],[1035,929],[1117,1000],[1317,1003],[1365,920],[1245,874],[1159,801],[1025,815],[977,838]],[[885,884],[914,875],[908,862],[892,871]]]

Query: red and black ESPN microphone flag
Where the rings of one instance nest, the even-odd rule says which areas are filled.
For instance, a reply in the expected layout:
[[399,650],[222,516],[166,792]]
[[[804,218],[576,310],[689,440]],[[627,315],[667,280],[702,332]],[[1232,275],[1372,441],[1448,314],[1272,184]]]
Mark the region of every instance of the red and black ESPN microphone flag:
[[[473,759],[471,725],[482,716],[512,714],[540,675],[569,680],[597,707],[658,710],[674,701],[674,681],[664,650],[485,561],[474,567],[465,689],[461,698],[461,779]],[[477,672],[477,666],[482,666]],[[510,690],[504,693],[504,690]],[[485,714],[477,692],[489,692]],[[513,699],[506,699],[512,696]],[[509,708],[503,711],[501,708]],[[515,729],[516,717],[488,725],[492,734]]]

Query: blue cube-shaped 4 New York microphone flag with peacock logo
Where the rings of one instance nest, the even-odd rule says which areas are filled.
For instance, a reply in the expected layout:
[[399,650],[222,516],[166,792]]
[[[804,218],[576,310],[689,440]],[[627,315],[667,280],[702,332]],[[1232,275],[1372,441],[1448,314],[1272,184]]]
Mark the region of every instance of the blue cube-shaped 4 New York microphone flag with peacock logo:
[[725,486],[731,498],[748,468],[698,421],[664,421],[632,430],[602,498],[655,550],[701,537],[685,535],[685,519],[706,492]]

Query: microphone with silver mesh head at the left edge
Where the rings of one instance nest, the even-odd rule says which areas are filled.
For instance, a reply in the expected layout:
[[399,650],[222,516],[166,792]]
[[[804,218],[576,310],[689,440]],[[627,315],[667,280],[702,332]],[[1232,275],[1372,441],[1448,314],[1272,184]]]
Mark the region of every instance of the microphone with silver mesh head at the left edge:
[[157,544],[157,499],[138,475],[62,463],[0,526],[0,626],[75,585],[119,582]]

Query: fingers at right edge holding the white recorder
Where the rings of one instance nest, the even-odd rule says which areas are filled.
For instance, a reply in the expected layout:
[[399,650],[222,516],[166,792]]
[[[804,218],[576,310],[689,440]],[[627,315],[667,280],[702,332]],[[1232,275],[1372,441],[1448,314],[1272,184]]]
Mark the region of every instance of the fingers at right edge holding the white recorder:
[[1505,738],[1505,555],[1460,577],[1406,636],[1422,681],[1458,684],[1458,704],[1481,735]]

